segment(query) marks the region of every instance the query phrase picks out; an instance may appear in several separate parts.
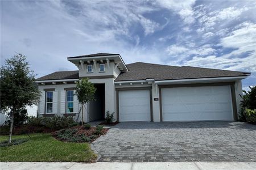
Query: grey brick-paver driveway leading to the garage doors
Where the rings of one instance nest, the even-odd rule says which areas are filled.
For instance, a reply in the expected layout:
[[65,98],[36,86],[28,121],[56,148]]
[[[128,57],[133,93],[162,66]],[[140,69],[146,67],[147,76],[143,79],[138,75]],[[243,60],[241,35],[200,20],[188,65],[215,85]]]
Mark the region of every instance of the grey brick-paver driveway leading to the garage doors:
[[100,162],[256,162],[256,126],[242,122],[136,122],[92,143]]

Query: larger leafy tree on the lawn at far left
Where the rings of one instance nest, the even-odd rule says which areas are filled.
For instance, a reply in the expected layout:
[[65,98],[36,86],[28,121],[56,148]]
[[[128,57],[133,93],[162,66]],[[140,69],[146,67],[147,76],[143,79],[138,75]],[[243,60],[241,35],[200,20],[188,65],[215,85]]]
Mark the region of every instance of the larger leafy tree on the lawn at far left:
[[35,84],[34,71],[30,70],[26,56],[16,54],[6,59],[1,67],[1,110],[10,110],[10,135],[13,133],[14,116],[25,105],[38,103],[40,92]]

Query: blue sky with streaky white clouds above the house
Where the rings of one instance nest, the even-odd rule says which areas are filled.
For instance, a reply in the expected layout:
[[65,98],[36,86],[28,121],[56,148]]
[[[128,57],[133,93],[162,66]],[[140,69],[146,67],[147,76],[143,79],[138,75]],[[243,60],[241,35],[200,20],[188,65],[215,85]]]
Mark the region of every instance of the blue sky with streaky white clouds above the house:
[[39,77],[100,52],[251,72],[247,89],[256,84],[256,1],[1,1],[1,65],[22,53]]

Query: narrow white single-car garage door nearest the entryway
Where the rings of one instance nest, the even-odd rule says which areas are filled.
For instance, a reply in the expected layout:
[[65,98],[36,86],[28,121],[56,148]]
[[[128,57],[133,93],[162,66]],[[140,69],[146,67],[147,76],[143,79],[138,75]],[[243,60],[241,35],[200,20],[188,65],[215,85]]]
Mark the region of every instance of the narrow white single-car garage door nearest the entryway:
[[119,121],[150,121],[150,91],[119,91]]

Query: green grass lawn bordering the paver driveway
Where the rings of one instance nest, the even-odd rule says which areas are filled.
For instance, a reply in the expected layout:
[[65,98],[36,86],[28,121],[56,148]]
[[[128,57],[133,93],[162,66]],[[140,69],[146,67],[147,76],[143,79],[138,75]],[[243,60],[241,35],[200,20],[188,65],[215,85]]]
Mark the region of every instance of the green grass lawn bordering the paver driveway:
[[[51,134],[30,134],[31,140],[20,145],[0,147],[0,162],[92,162],[95,155],[89,143],[57,141]],[[29,138],[14,135],[13,139]],[[5,141],[8,136],[0,136]]]

